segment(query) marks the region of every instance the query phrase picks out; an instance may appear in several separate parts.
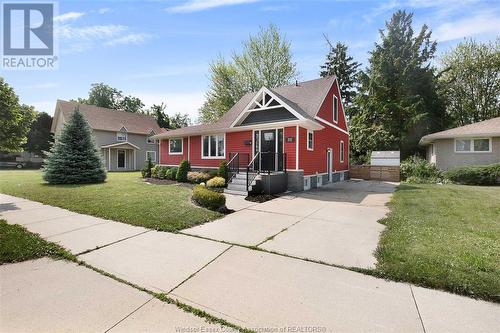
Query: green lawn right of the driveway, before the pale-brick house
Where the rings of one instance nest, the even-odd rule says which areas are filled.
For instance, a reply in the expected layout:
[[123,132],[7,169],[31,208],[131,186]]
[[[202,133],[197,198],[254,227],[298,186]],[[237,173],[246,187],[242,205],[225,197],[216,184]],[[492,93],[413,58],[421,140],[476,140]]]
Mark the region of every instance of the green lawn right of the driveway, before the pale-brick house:
[[500,187],[402,184],[382,220],[382,275],[500,300]]

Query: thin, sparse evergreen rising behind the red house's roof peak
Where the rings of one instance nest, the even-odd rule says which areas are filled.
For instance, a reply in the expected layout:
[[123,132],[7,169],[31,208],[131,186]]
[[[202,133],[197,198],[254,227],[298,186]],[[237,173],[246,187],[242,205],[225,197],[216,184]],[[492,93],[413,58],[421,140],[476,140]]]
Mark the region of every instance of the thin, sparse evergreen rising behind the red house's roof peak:
[[358,73],[361,64],[354,61],[354,58],[347,53],[347,45],[337,42],[334,46],[325,36],[326,42],[330,46],[330,51],[326,55],[325,64],[321,66],[321,77],[336,75],[339,82],[340,93],[344,99],[344,105],[350,106],[358,86]]

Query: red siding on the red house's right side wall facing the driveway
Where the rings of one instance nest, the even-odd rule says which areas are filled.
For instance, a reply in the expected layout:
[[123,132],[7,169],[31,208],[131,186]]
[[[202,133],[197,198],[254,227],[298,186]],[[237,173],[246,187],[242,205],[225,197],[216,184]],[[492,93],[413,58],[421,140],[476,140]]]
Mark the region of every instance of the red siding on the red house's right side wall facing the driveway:
[[[347,130],[344,117],[344,110],[340,102],[340,95],[337,82],[332,85],[328,92],[318,116],[326,121],[333,123],[333,95],[336,95],[339,100],[339,121],[338,127]],[[320,122],[321,123],[321,122]],[[327,167],[328,148],[333,149],[333,169],[334,171],[349,169],[349,136],[338,129],[335,129],[327,124],[321,123],[325,128],[320,131],[314,131],[314,150],[307,150],[307,130],[300,128],[299,130],[299,169],[304,170],[304,175],[313,175],[325,173]],[[340,162],[340,141],[344,141],[344,162]]]

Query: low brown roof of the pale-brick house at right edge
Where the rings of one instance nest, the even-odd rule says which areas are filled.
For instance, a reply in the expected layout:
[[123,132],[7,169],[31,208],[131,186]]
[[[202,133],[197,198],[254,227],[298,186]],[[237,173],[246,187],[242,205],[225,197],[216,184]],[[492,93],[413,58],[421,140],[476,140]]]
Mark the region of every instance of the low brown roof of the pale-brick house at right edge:
[[453,139],[473,136],[500,136],[500,117],[480,121],[474,124],[452,128],[446,131],[428,134],[420,140],[421,145],[438,139]]

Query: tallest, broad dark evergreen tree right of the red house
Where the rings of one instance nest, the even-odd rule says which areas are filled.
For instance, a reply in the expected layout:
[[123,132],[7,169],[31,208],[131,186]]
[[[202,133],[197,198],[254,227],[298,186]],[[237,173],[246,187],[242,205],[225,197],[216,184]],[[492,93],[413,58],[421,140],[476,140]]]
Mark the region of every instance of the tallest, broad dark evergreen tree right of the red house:
[[[350,123],[355,160],[371,150],[400,150],[405,158],[419,152],[423,135],[446,125],[431,67],[436,42],[426,25],[415,32],[412,19],[413,14],[405,11],[393,14],[380,31],[368,69],[360,74],[360,94]],[[364,140],[362,134],[370,132],[371,139]]]

